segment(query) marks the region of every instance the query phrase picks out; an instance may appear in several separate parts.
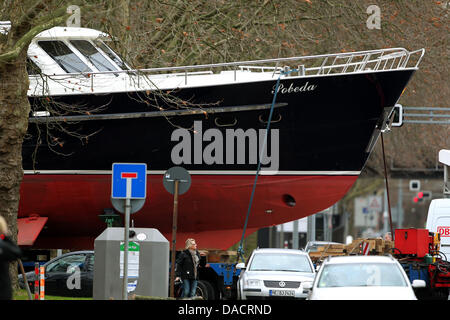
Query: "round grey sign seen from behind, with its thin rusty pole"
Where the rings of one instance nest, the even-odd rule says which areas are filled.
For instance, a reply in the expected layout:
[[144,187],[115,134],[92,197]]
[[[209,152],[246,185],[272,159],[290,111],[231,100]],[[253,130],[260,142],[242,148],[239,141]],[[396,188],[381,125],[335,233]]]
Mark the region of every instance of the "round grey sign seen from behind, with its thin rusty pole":
[[[180,184],[181,183],[181,184]],[[191,176],[182,167],[172,167],[166,171],[163,185],[167,192],[173,194],[173,219],[172,219],[172,251],[170,265],[170,296],[175,296],[175,252],[177,250],[177,220],[178,220],[178,196],[189,190]]]

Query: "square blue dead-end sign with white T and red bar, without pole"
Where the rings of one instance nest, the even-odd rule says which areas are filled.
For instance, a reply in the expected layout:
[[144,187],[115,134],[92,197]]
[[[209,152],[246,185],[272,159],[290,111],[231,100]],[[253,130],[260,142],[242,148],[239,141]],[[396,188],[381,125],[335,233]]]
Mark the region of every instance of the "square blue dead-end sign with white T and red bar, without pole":
[[147,164],[113,163],[111,198],[145,199],[147,194]]

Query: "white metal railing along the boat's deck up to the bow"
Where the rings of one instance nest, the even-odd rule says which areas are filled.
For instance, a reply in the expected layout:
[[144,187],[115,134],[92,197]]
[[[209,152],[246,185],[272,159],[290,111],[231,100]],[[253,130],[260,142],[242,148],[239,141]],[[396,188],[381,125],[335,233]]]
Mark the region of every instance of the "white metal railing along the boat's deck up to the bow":
[[[41,82],[41,93],[49,92],[49,82],[68,81],[76,78],[80,80],[80,85],[84,89],[90,87],[95,92],[95,79],[111,75],[118,77],[117,81],[132,82],[136,89],[155,87],[155,81],[172,77],[184,77],[184,84],[189,85],[189,80],[197,76],[218,75],[222,71],[231,71],[233,80],[240,81],[243,77],[239,75],[249,75],[264,73],[265,76],[278,78],[292,76],[328,76],[358,72],[389,71],[405,68],[417,68],[420,64],[425,49],[408,51],[404,48],[389,48],[378,50],[367,50],[358,52],[344,52],[335,54],[323,54],[314,56],[277,58],[253,61],[227,62],[217,64],[203,64],[181,67],[164,67],[121,71],[104,71],[89,73],[65,73],[59,75],[38,75],[36,79]],[[44,81],[39,78],[43,77]],[[198,79],[198,78],[197,78]],[[248,78],[246,78],[248,79]],[[70,81],[69,81],[70,82]],[[67,84],[65,84],[67,86]],[[130,86],[128,86],[130,87]],[[80,87],[81,88],[81,87]],[[72,90],[74,90],[72,88]],[[38,91],[38,90],[36,90]]]

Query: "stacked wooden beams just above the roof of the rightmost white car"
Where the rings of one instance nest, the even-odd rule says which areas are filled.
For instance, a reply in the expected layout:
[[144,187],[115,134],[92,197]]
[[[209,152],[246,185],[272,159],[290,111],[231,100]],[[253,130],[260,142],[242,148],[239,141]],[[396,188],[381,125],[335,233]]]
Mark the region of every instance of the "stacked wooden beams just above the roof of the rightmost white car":
[[369,255],[385,255],[392,254],[394,247],[393,241],[383,240],[381,238],[355,239],[348,245],[329,244],[318,247],[316,252],[310,252],[309,256],[313,262],[323,261],[329,256],[348,256],[362,254],[363,244],[368,244]]

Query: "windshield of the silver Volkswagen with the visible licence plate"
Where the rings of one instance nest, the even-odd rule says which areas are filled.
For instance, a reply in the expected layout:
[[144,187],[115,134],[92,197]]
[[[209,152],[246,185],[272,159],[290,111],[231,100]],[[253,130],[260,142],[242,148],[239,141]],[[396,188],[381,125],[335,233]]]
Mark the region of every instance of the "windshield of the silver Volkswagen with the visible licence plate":
[[285,253],[255,254],[248,270],[313,272],[305,255]]

